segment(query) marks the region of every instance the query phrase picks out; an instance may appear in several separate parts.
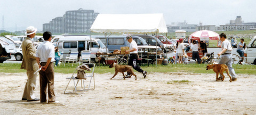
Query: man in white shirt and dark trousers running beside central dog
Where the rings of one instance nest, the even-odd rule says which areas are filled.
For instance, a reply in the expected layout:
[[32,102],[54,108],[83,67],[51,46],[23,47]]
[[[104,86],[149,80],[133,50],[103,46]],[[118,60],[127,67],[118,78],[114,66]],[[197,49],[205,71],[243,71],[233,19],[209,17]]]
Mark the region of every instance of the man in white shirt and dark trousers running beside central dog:
[[[130,59],[128,61],[128,65],[131,65],[133,69],[135,69],[138,72],[141,72],[144,76],[144,78],[146,78],[147,76],[147,71],[144,71],[140,68],[139,65],[137,65],[137,60],[138,60],[138,46],[137,43],[132,39],[131,36],[127,36],[126,40],[130,43],[130,51],[125,51],[125,53],[129,53],[130,52]],[[130,78],[131,75],[129,73],[127,73],[126,75],[127,78]]]

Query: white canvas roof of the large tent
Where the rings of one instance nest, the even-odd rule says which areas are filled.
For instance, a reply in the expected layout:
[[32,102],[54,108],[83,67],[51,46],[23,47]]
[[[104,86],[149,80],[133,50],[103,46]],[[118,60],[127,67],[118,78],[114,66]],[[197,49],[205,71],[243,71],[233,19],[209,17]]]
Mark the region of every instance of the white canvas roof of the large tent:
[[99,14],[92,24],[92,32],[110,33],[166,33],[163,14]]

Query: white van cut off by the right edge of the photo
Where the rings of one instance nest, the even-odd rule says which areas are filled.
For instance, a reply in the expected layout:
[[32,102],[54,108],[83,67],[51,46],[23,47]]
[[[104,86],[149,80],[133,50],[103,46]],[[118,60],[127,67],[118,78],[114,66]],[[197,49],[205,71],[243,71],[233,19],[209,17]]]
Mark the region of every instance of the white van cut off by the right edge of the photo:
[[244,50],[244,62],[256,65],[256,36],[253,37]]

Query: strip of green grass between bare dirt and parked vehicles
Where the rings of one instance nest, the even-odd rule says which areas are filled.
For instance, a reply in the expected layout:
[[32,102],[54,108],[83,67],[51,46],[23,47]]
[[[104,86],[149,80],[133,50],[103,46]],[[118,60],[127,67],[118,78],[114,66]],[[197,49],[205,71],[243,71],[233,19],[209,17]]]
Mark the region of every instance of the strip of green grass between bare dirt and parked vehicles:
[[[21,63],[0,63],[0,72],[26,72],[24,69],[20,69]],[[67,63],[64,67],[63,64],[59,67],[54,67],[55,72],[59,73],[73,73],[77,64],[73,67],[71,63]],[[168,64],[168,65],[145,65],[141,66],[143,70],[148,72],[192,72],[192,73],[214,73],[212,70],[206,71],[206,64]],[[239,65],[233,64],[233,68],[237,74],[247,74],[247,75],[256,75],[256,66],[255,65]],[[108,66],[95,67],[95,73],[114,73],[114,68],[109,68]]]

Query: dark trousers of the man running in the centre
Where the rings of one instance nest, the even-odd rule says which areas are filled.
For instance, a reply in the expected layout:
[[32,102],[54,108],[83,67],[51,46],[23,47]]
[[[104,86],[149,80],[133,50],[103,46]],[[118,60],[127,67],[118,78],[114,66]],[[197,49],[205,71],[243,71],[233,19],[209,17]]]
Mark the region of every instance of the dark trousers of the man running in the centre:
[[[143,70],[140,68],[139,65],[137,65],[138,60],[138,54],[130,54],[130,59],[128,61],[128,65],[131,65],[133,69],[135,69],[138,72],[143,72]],[[129,74],[129,73],[127,73]]]

